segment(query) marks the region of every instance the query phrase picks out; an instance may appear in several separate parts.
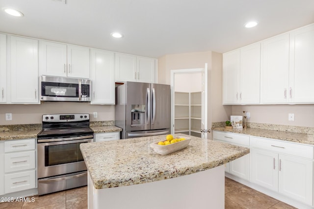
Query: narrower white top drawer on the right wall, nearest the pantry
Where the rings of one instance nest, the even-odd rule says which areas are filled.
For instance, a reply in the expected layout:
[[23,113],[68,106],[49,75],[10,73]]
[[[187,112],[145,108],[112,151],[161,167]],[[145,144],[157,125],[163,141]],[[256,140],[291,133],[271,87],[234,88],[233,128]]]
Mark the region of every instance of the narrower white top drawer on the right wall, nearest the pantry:
[[242,134],[213,131],[212,138],[214,140],[225,141],[230,144],[235,144],[239,146],[245,146],[245,147],[250,146],[250,137],[246,135],[242,135]]

